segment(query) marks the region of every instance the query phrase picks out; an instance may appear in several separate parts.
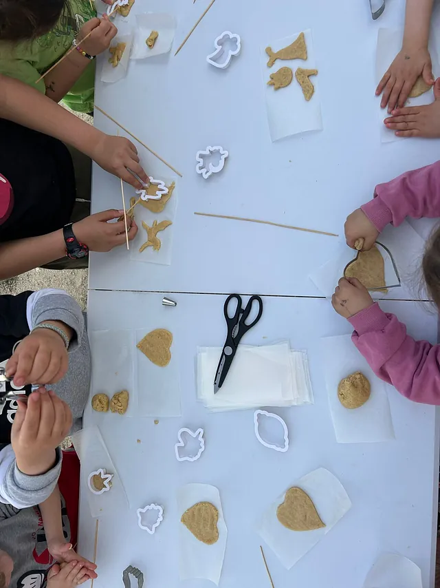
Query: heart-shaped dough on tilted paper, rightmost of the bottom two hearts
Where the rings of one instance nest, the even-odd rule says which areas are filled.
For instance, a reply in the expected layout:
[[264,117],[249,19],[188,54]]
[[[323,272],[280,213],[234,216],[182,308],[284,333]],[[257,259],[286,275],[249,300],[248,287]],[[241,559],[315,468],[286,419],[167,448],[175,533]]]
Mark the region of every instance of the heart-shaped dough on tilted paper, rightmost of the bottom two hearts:
[[313,531],[325,527],[310,496],[296,486],[287,490],[284,502],[276,509],[276,517],[291,531]]

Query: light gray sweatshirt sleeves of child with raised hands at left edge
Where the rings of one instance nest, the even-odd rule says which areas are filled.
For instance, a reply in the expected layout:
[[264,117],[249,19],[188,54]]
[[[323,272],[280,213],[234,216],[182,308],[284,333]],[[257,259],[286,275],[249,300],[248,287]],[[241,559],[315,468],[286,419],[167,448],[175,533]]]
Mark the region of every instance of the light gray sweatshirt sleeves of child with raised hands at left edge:
[[[74,330],[69,346],[69,370],[61,381],[51,386],[69,404],[74,417],[74,432],[81,428],[81,417],[89,395],[90,348],[85,317],[71,296],[63,291],[51,290],[32,294],[27,302],[27,315],[30,329],[43,321],[58,320]],[[12,401],[5,410],[17,410],[17,403]],[[17,468],[12,446],[0,449],[0,507],[3,503],[21,509],[45,501],[52,494],[61,471],[61,451],[57,450],[52,470],[41,476],[27,476]],[[3,534],[2,525],[0,514],[0,537]]]

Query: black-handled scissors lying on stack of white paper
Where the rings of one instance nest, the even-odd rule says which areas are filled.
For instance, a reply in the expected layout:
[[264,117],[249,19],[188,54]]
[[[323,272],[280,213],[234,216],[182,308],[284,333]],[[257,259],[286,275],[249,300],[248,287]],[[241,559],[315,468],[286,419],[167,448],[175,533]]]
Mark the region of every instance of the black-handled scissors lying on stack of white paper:
[[[236,311],[233,317],[228,314],[228,308],[231,300],[236,300]],[[250,324],[247,324],[246,319],[248,319],[252,311],[252,304],[254,304],[255,300],[258,303],[259,311],[256,315],[256,318],[254,318]],[[239,294],[231,294],[228,296],[228,298],[226,298],[225,305],[223,306],[223,313],[225,315],[226,324],[228,325],[228,335],[226,337],[223,351],[221,352],[219,366],[217,367],[217,372],[215,374],[214,394],[217,394],[221,386],[223,386],[223,382],[225,381],[225,377],[228,374],[241,337],[243,337],[243,335],[247,333],[250,328],[259,322],[261,315],[263,314],[263,300],[261,300],[261,297],[259,296],[251,296],[245,308],[242,308],[242,304],[243,302]]]

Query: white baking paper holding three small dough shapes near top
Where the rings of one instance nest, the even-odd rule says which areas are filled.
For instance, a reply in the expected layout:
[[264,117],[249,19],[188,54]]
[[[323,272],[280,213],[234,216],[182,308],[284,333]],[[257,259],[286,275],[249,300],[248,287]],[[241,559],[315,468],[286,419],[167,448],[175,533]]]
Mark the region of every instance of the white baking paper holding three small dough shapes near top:
[[[307,60],[292,59],[282,61],[277,59],[272,67],[267,67],[269,56],[265,49],[267,46],[272,47],[274,52],[279,51],[297,39],[301,31],[278,39],[270,43],[265,43],[261,47],[261,71],[263,72],[263,91],[266,96],[267,119],[269,121],[270,136],[272,141],[276,141],[289,135],[303,133],[305,131],[316,131],[322,129],[321,103],[319,92],[319,68],[316,65],[314,56],[314,45],[311,36],[311,30],[304,31],[305,42],[307,45]],[[278,72],[281,67],[290,67],[294,74],[292,83],[287,87],[274,90],[274,86],[268,86],[270,74]],[[314,95],[309,102],[304,98],[303,90],[296,81],[295,72],[297,67],[303,67],[306,70],[318,70],[318,75],[311,76],[310,81],[315,87]]]

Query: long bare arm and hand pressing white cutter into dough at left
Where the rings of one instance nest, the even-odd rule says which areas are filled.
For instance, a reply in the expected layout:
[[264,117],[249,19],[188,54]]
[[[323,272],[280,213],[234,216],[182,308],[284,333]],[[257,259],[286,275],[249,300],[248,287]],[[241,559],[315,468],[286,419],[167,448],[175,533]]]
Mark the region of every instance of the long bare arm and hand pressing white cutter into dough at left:
[[142,185],[127,168],[134,171],[143,182],[148,179],[131,141],[125,137],[106,135],[54,103],[34,87],[1,74],[0,117],[76,147],[96,161],[102,169],[137,189],[142,188]]

